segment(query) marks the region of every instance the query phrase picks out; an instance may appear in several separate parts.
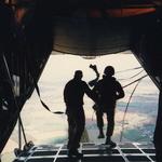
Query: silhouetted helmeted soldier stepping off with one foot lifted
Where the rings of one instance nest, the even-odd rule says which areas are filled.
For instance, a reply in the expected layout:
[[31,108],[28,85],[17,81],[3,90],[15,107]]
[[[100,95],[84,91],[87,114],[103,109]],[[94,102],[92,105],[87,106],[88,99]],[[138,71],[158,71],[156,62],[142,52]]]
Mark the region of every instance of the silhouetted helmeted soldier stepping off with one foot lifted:
[[107,66],[104,70],[103,79],[99,80],[94,86],[94,91],[98,94],[98,103],[96,105],[96,118],[97,118],[97,126],[99,129],[98,138],[104,138],[104,121],[103,114],[107,114],[107,132],[106,132],[106,145],[110,145],[111,147],[116,147],[116,143],[111,140],[111,136],[113,134],[114,129],[114,110],[117,99],[124,97],[124,91],[121,84],[116,80],[114,69],[112,66]]

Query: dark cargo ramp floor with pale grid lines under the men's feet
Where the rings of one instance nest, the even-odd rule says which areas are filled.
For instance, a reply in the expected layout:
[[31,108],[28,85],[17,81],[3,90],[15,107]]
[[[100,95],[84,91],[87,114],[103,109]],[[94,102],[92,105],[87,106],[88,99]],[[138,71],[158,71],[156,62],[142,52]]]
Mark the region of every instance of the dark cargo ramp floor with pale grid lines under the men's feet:
[[66,145],[33,146],[14,162],[153,162],[156,153],[152,144],[125,143],[108,149],[105,145],[83,143],[79,149],[82,159],[69,159]]

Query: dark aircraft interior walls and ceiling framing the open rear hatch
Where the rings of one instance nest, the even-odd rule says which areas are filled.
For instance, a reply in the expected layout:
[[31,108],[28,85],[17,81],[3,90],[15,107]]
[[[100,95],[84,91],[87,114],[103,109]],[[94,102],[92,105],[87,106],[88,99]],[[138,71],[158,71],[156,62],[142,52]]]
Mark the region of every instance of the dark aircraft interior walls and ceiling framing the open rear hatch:
[[4,0],[0,13],[0,152],[52,51],[91,58],[131,50],[160,91],[154,131],[160,162],[161,0]]

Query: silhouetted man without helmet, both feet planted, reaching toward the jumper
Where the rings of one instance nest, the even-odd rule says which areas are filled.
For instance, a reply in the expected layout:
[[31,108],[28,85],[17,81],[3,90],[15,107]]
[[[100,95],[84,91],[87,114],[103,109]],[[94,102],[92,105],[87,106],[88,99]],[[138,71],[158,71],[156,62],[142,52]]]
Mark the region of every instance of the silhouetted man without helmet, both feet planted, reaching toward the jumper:
[[73,79],[64,89],[64,100],[68,117],[68,156],[80,158],[83,154],[78,152],[78,148],[80,147],[80,139],[85,125],[83,96],[86,94],[89,97],[94,98],[89,85],[82,81],[82,71],[77,70]]

